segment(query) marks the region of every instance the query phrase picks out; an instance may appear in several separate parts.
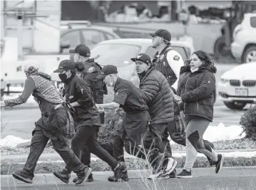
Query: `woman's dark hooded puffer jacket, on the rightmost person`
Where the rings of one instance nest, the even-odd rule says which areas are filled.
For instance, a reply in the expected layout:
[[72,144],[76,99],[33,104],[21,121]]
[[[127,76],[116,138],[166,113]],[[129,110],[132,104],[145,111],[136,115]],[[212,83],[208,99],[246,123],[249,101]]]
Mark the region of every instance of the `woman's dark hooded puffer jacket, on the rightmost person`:
[[179,107],[185,115],[196,115],[213,121],[215,92],[214,65],[200,66],[192,73],[190,65],[180,68],[177,95],[183,100]]

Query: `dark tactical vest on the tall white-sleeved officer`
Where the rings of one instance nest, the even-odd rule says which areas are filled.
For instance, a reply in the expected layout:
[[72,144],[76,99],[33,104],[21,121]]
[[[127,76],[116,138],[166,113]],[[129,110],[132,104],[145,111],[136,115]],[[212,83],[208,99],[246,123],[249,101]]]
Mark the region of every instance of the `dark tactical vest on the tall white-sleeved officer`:
[[[159,70],[161,73],[163,73],[165,78],[168,80],[170,87],[178,79],[176,77],[175,73],[173,72],[173,69],[170,68],[170,65],[168,64],[168,60],[166,58],[167,53],[171,50],[173,50],[173,49],[170,48],[170,46],[166,46],[163,49],[163,51],[161,51],[161,53],[158,56],[155,56],[155,58],[153,59],[153,64],[155,65],[155,68],[157,70]],[[172,64],[172,63],[170,63],[170,64]]]

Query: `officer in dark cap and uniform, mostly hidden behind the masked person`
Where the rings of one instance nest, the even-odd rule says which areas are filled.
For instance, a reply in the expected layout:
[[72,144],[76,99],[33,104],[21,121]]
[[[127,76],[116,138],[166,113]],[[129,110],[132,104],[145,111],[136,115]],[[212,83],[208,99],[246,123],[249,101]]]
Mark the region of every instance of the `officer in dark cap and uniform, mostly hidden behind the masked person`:
[[[97,80],[96,77],[101,74],[101,66],[94,61],[94,58],[90,58],[90,49],[79,44],[75,49],[71,49],[69,53],[73,53],[73,59],[76,62],[76,75],[86,81],[93,92],[93,100],[97,104],[103,103],[103,94],[107,94],[106,85],[103,80]],[[101,124],[104,124],[104,112],[100,114]],[[96,130],[98,136],[99,128]],[[81,162],[88,167],[91,164],[91,153],[88,152],[88,148],[85,146],[81,151]],[[77,178],[73,179],[74,182]],[[88,181],[93,181],[93,175],[91,174]]]

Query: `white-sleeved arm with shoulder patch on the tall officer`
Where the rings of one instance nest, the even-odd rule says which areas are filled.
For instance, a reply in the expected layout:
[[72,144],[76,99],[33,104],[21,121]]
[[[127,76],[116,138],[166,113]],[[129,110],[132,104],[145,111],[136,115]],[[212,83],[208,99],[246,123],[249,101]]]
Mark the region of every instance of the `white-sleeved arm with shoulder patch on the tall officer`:
[[167,53],[166,58],[168,60],[168,64],[170,65],[170,68],[173,70],[173,72],[175,73],[175,75],[177,77],[177,80],[173,84],[173,88],[175,88],[175,90],[177,90],[178,80],[180,77],[180,68],[184,65],[183,58],[180,56],[180,53],[178,53],[177,51],[174,51],[174,50],[169,51]]

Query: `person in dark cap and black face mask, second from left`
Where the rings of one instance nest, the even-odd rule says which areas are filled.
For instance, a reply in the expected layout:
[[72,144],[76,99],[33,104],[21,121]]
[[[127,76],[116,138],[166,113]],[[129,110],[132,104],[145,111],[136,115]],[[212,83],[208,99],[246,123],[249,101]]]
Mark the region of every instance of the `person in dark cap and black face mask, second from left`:
[[[98,144],[96,131],[98,126],[101,125],[101,120],[93,100],[91,88],[88,83],[76,75],[76,63],[72,60],[61,61],[54,73],[59,73],[59,78],[65,84],[63,95],[66,97],[66,102],[74,109],[73,117],[76,124],[76,134],[71,141],[71,149],[78,157],[82,147],[86,144],[90,152],[108,163],[114,171],[114,181],[118,181],[121,179],[122,171],[126,169],[126,164],[117,162]],[[63,171],[56,171],[53,174],[59,179],[65,179],[64,182],[68,182],[71,169],[66,167]],[[91,172],[88,172],[89,174]]]

